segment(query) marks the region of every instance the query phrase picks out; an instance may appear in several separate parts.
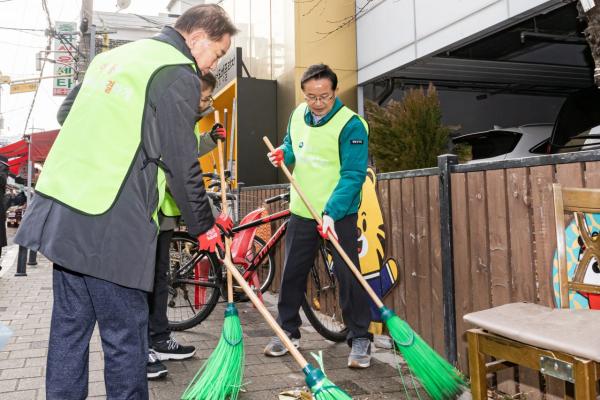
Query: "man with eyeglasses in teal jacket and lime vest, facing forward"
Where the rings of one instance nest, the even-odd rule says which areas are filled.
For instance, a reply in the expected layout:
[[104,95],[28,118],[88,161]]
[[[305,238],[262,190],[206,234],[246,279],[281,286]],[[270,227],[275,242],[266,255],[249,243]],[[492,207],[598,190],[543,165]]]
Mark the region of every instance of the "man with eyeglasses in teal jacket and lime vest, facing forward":
[[[271,163],[294,165],[294,178],[307,194],[323,225],[318,226],[292,188],[292,215],[285,238],[285,266],[277,308],[278,323],[299,347],[300,306],[306,280],[313,265],[321,237],[328,233],[338,238],[342,248],[358,265],[356,221],[362,184],[367,174],[368,125],[358,114],[344,106],[337,93],[337,76],[324,64],[308,67],[300,87],[305,103],[290,117],[283,144],[268,153]],[[348,367],[367,368],[371,364],[369,299],[365,290],[333,250],[334,271],[340,284],[340,305],[352,346]],[[277,337],[264,350],[279,357],[288,351]]]

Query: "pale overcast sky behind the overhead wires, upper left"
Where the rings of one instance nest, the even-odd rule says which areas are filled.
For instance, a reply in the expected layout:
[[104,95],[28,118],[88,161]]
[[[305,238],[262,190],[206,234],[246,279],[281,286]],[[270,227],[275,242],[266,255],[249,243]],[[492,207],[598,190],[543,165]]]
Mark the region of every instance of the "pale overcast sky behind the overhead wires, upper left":
[[[81,0],[47,0],[52,22],[73,21],[79,26]],[[94,0],[94,10],[117,11],[117,0]],[[168,0],[131,0],[121,12],[158,15],[166,12]],[[0,0],[0,27],[45,29],[48,26],[41,0]],[[35,70],[36,53],[45,48],[43,32],[16,32],[0,28],[0,71],[11,79],[38,77]],[[53,64],[46,63],[45,76],[53,75]],[[0,112],[4,115],[3,136],[21,136],[33,99],[33,93],[10,95],[8,85],[0,85]],[[56,111],[64,97],[52,96],[52,79],[42,81],[28,131],[34,128],[58,128]],[[36,129],[37,131],[37,129]]]

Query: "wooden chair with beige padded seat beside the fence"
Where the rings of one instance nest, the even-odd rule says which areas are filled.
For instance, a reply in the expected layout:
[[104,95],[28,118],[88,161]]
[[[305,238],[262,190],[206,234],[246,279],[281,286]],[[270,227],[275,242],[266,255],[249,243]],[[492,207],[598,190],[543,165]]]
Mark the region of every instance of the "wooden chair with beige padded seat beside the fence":
[[[589,271],[591,261],[600,262],[600,236],[592,236],[583,214],[600,213],[600,190],[561,188],[558,184],[553,190],[561,308],[511,303],[464,316],[466,322],[479,327],[467,331],[474,400],[487,399],[486,374],[515,365],[571,382],[577,400],[596,399],[600,311],[569,309],[569,291],[600,294],[599,285],[584,283],[589,281],[586,273],[595,273]],[[585,245],[571,280],[567,273],[565,212],[574,214]],[[486,364],[486,356],[498,361]]]

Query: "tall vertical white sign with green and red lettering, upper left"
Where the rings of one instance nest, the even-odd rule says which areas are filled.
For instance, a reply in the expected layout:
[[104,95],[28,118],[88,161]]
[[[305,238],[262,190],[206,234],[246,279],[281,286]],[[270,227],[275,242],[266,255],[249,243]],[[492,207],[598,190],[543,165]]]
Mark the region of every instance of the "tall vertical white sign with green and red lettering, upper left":
[[55,25],[58,38],[53,39],[54,51],[56,51],[56,63],[54,64],[54,85],[52,94],[54,96],[66,96],[69,94],[75,81],[73,79],[75,59],[75,40],[77,37],[77,24],[75,22],[56,22]]

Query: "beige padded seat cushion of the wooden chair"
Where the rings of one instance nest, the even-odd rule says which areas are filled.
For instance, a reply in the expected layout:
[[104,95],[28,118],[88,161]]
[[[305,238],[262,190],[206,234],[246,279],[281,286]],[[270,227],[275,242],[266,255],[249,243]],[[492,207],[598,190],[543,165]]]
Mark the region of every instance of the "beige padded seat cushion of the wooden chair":
[[463,319],[521,343],[600,362],[600,311],[510,303]]

